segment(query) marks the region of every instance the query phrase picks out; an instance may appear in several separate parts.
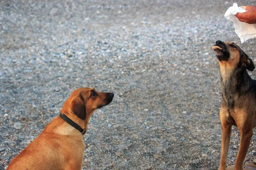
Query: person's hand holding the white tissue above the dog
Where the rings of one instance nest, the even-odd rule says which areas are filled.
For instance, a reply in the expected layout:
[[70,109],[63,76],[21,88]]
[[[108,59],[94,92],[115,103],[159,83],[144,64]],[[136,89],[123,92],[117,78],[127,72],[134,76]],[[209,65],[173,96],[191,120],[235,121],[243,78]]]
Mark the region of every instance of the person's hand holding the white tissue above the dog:
[[238,20],[248,24],[256,24],[256,6],[246,6],[245,10],[246,12],[235,15]]

